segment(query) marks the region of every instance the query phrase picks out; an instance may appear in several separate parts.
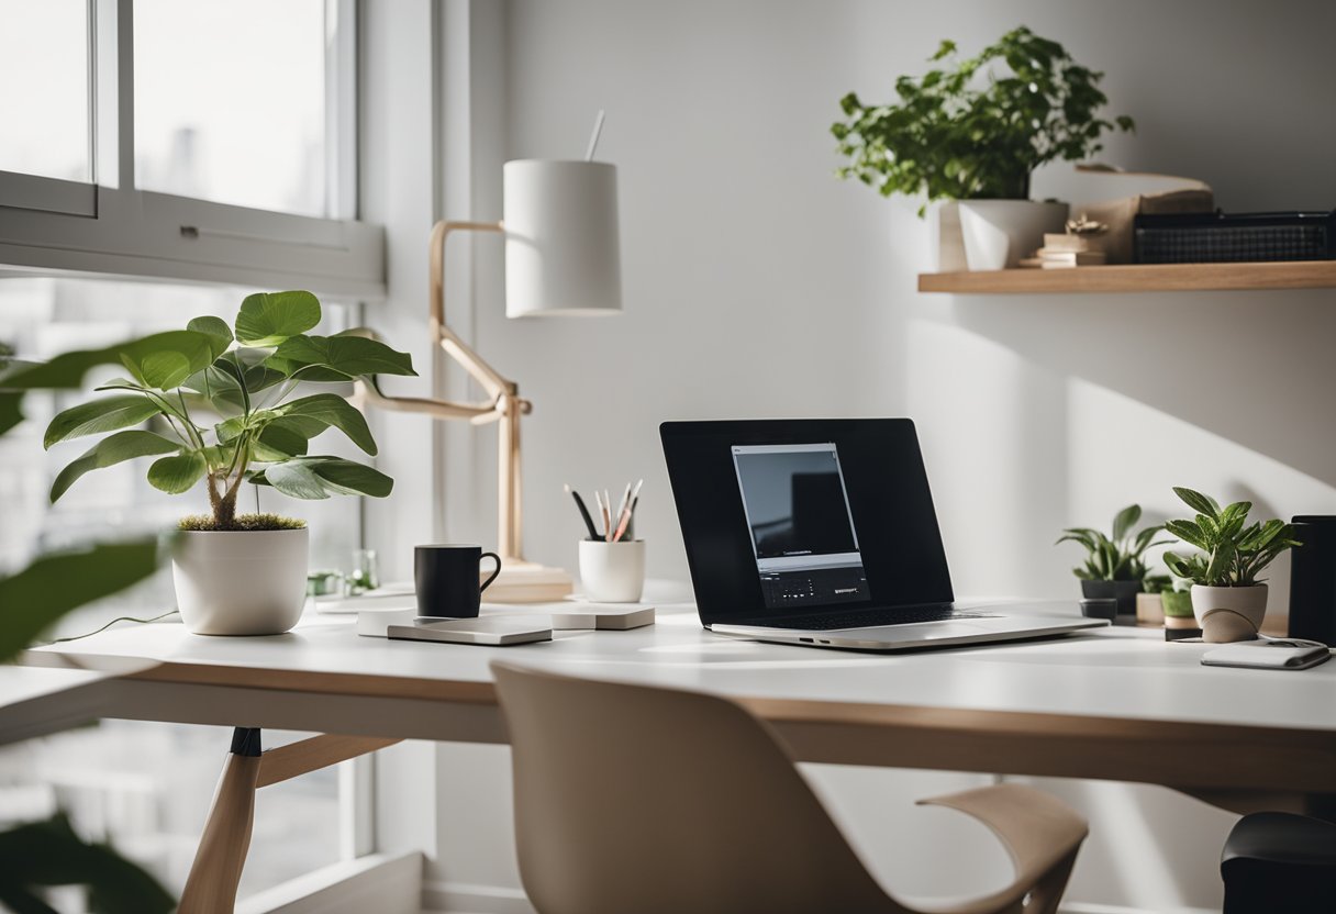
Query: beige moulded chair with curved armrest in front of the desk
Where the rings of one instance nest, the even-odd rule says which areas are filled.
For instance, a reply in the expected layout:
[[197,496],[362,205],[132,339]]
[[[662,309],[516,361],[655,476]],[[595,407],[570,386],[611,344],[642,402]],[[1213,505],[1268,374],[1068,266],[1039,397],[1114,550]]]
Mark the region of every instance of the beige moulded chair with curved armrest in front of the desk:
[[[831,822],[771,728],[712,695],[493,663],[514,750],[520,873],[541,914],[910,911]],[[1057,910],[1086,823],[1002,784],[941,796],[1015,881],[958,914]]]

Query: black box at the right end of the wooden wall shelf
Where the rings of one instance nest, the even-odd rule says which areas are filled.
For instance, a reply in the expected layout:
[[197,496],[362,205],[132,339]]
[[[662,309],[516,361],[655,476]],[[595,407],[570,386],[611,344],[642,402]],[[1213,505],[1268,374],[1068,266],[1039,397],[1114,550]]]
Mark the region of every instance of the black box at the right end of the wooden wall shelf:
[[1237,263],[1336,258],[1332,212],[1186,212],[1138,215],[1136,263]]

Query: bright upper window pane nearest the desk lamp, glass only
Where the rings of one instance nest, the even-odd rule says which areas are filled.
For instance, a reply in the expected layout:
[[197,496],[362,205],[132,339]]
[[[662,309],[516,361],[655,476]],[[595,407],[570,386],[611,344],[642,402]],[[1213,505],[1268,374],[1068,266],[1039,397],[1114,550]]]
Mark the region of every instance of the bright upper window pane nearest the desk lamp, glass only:
[[136,0],[139,187],[330,215],[325,100],[325,0]]

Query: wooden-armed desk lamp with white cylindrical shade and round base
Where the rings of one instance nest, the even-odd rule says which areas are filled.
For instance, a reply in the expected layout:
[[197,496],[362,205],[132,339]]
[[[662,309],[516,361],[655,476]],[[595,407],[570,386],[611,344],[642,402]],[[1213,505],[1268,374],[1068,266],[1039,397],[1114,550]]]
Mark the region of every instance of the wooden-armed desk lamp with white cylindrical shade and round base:
[[430,241],[433,345],[458,362],[482,388],[482,402],[389,397],[374,384],[358,390],[363,402],[437,420],[497,424],[497,552],[501,576],[488,597],[501,603],[560,599],[570,576],[524,560],[521,543],[520,417],[533,405],[514,381],[488,365],[445,322],[445,242],[454,231],[505,237],[506,317],[616,314],[621,310],[617,242],[617,168],[604,162],[516,160],[502,170],[501,222],[438,222]]

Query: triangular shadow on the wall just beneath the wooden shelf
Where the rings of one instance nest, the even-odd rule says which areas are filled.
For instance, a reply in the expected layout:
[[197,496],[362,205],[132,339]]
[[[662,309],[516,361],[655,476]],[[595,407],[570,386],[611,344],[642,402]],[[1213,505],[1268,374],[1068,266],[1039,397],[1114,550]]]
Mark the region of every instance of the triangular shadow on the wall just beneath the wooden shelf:
[[1035,365],[1336,485],[1329,290],[959,297],[951,309]]

